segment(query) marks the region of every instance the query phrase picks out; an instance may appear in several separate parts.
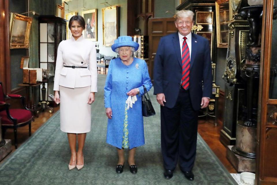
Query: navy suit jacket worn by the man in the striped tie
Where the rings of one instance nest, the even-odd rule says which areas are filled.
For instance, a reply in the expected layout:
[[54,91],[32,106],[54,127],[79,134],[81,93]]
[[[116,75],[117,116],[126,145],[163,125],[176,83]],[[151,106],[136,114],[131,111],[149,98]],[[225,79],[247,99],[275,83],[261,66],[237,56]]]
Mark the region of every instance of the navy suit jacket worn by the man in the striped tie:
[[[164,93],[168,108],[174,107],[179,94],[181,66],[178,32],[162,37],[154,60],[154,95]],[[202,97],[212,96],[212,63],[208,40],[193,33],[189,82],[192,108],[199,110]]]

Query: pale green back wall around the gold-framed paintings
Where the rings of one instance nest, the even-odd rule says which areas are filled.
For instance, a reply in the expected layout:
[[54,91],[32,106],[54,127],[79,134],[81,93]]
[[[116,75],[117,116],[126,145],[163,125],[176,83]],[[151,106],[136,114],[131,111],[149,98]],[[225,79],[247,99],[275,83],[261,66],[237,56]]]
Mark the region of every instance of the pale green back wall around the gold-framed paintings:
[[[102,8],[105,8],[104,2],[108,2],[112,6],[119,6],[120,19],[119,19],[119,36],[127,34],[127,0],[74,0],[69,1],[68,9],[72,12],[77,12],[78,15],[82,15],[82,11],[97,9],[97,27],[98,27],[98,43],[99,43],[99,53],[109,56],[117,56],[117,53],[113,52],[111,47],[103,46],[103,26],[102,26]],[[107,5],[109,6],[109,5]],[[85,9],[81,9],[85,7]],[[69,11],[65,12],[69,13]]]

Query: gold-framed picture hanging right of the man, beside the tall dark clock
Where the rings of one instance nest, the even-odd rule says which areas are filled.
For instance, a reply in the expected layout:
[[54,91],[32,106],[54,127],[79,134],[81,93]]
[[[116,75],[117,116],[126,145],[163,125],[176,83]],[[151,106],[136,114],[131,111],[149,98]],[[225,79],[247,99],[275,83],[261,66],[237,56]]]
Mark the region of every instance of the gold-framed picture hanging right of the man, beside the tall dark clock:
[[230,20],[229,0],[216,1],[216,38],[217,47],[228,47]]

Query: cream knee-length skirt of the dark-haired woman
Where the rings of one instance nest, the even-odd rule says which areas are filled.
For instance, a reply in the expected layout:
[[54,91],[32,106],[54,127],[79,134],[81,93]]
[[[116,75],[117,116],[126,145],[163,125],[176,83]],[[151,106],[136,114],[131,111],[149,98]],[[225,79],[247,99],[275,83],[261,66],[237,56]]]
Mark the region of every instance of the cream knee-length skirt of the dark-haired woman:
[[91,105],[87,104],[90,86],[66,88],[60,86],[61,131],[87,133],[91,126]]

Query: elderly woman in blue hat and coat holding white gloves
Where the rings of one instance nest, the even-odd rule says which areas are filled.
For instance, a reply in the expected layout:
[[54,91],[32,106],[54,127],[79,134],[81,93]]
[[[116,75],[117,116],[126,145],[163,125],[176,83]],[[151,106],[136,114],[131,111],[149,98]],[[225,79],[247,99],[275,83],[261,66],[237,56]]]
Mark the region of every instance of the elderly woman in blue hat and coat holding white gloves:
[[144,145],[142,100],[143,85],[152,87],[147,64],[132,57],[139,44],[130,36],[120,36],[112,50],[120,58],[111,60],[104,87],[104,103],[108,116],[106,142],[117,147],[118,163],[115,171],[123,172],[124,149],[129,149],[128,164],[131,173],[137,172],[134,156],[136,147]]

